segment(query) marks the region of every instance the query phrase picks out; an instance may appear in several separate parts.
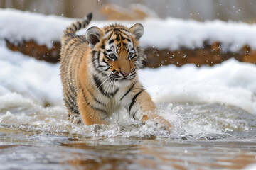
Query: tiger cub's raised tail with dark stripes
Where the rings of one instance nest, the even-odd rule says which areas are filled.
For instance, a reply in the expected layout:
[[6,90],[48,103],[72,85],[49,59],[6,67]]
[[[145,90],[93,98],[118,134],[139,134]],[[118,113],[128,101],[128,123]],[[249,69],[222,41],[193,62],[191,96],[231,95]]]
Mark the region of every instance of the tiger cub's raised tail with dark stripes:
[[[80,21],[75,21],[74,23],[72,23],[70,26],[68,26],[68,28],[66,28],[64,30],[63,33],[63,40],[66,42],[67,40],[70,40],[70,38],[74,38],[75,37],[75,33],[82,29],[82,28],[86,28],[90,21],[92,20],[92,13],[89,13],[85,18],[83,18]],[[65,40],[66,39],[66,40]]]

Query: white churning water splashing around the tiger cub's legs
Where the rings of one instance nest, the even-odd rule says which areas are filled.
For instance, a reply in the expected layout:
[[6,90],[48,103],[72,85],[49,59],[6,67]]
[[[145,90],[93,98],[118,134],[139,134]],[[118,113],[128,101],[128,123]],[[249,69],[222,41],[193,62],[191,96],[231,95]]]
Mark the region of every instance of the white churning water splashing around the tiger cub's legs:
[[[15,102],[13,99],[15,98]],[[110,125],[83,125],[68,120],[64,106],[43,108],[18,94],[5,96],[0,108],[0,127],[44,133],[68,133],[83,137],[167,137],[173,139],[218,139],[255,135],[255,118],[246,111],[220,103],[164,103],[159,114],[174,125],[171,132],[152,123],[141,125],[120,110],[110,116]]]

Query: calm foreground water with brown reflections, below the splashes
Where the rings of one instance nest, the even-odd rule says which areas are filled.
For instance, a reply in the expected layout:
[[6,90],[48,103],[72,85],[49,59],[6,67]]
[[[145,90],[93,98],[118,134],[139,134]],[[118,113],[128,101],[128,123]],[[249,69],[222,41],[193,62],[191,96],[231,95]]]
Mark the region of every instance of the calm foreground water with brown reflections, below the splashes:
[[30,135],[24,132],[12,145],[1,142],[1,169],[242,169],[256,163],[256,142],[249,139]]

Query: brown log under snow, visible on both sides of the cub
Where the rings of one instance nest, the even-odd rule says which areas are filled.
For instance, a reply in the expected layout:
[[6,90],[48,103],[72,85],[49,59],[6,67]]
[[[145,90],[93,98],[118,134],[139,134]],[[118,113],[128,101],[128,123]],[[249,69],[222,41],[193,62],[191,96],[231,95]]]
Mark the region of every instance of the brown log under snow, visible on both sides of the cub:
[[[60,58],[60,42],[53,42],[53,48],[48,49],[46,45],[37,45],[35,41],[23,41],[14,45],[6,40],[7,47],[10,50],[20,51],[25,55],[35,57],[38,60],[56,63]],[[250,62],[256,64],[256,50],[252,50],[245,45],[239,52],[222,52],[220,42],[209,44],[204,42],[203,47],[188,49],[181,48],[180,50],[159,50],[156,48],[146,48],[145,67],[156,68],[161,65],[175,64],[180,67],[183,64],[193,63],[200,67],[201,65],[213,66],[221,63],[231,57],[240,62]]]

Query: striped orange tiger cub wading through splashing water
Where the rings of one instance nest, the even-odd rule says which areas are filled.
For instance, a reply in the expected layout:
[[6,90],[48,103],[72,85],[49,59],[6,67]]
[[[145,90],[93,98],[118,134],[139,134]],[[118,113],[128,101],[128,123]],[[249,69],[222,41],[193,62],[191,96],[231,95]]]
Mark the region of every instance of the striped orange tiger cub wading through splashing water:
[[85,125],[107,124],[106,118],[124,107],[134,119],[159,120],[171,127],[155,113],[155,104],[138,80],[137,69],[144,60],[139,47],[143,26],[91,27],[85,35],[76,35],[91,19],[92,13],[72,23],[61,40],[60,75],[70,115],[80,115]]

